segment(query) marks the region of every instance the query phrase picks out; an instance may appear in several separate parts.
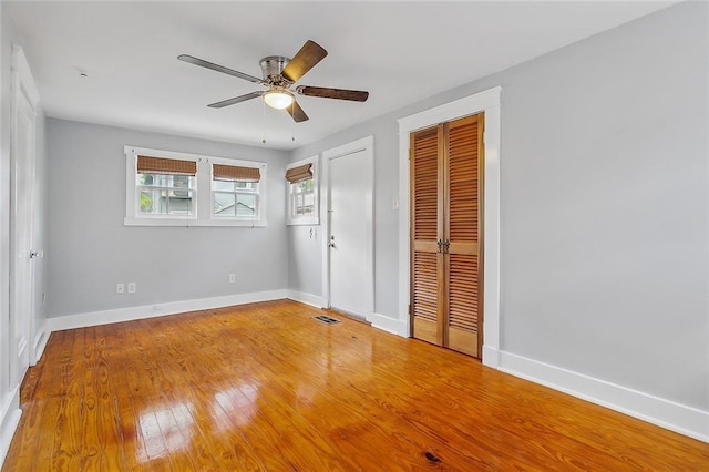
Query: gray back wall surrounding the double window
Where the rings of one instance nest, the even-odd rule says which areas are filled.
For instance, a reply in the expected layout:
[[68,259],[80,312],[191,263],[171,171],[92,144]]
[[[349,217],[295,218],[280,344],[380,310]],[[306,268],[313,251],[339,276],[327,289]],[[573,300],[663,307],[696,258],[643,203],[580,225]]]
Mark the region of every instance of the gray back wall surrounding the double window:
[[[50,317],[288,288],[287,153],[54,119],[47,134]],[[268,226],[124,226],[124,145],[266,162]]]

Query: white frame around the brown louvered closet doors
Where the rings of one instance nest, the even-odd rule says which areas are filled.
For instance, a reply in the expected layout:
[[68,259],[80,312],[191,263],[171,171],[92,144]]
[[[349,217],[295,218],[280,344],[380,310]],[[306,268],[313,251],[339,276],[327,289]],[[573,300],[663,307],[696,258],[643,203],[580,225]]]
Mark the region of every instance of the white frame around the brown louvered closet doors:
[[404,116],[399,122],[399,331],[409,337],[410,268],[410,134],[439,123],[485,113],[483,211],[483,349],[485,366],[500,365],[500,114],[501,86]]

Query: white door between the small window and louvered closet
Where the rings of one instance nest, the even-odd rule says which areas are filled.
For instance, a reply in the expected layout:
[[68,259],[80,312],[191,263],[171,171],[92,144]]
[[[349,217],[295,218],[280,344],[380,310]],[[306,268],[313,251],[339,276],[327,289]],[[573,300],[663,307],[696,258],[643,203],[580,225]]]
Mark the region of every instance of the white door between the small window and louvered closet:
[[373,310],[371,148],[329,160],[330,307],[368,319]]

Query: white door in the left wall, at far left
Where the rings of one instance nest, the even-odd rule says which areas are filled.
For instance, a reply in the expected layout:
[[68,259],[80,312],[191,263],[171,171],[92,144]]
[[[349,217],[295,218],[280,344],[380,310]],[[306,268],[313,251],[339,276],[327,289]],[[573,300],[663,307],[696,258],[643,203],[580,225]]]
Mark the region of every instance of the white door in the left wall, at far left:
[[[34,226],[34,133],[33,94],[20,64],[23,55],[13,55],[13,110],[11,143],[11,234],[10,234],[10,327],[14,334],[12,381],[21,382],[30,366],[33,349],[34,275],[32,259]],[[25,63],[24,63],[25,65]],[[29,70],[29,68],[28,68]],[[30,79],[31,80],[31,79]]]

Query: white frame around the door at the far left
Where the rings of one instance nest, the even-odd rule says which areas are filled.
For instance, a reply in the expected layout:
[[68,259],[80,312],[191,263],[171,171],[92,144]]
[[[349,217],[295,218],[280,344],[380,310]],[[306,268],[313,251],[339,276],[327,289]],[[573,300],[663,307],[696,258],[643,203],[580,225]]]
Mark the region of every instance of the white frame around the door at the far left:
[[[35,294],[34,294],[34,288],[35,288],[35,283],[34,283],[34,264],[30,263],[29,265],[29,279],[30,279],[30,285],[31,287],[25,287],[24,289],[27,290],[32,290],[32,293],[29,295],[29,299],[28,299],[28,304],[29,304],[29,314],[27,316],[25,319],[21,319],[19,320],[14,314],[12,314],[12,310],[14,308],[14,299],[17,298],[16,295],[16,271],[14,271],[14,267],[16,267],[16,259],[18,257],[17,254],[14,254],[14,246],[16,246],[16,239],[19,237],[24,237],[27,239],[29,239],[29,248],[30,250],[34,250],[34,208],[35,208],[35,204],[37,204],[37,192],[35,192],[35,168],[37,168],[37,148],[35,148],[35,143],[37,143],[37,115],[38,115],[38,107],[39,107],[39,102],[40,102],[40,95],[39,92],[37,90],[37,86],[34,84],[34,80],[32,79],[32,73],[30,71],[30,65],[27,61],[27,57],[24,55],[24,51],[22,50],[21,47],[13,44],[12,45],[12,62],[11,62],[11,88],[12,88],[12,92],[11,92],[11,96],[12,96],[12,102],[11,102],[11,122],[10,122],[10,126],[11,126],[11,137],[10,137],[10,278],[9,278],[9,283],[10,283],[10,304],[9,304],[9,308],[10,308],[10,326],[9,326],[9,334],[10,334],[10,359],[11,359],[11,365],[10,365],[10,379],[11,379],[11,383],[20,383],[22,381],[21,378],[19,378],[19,372],[24,370],[23,366],[19,365],[19,355],[20,355],[20,348],[17,345],[17,339],[14,338],[14,332],[16,332],[16,324],[17,322],[22,322],[22,324],[27,324],[25,328],[27,328],[27,347],[25,349],[28,349],[28,359],[29,359],[29,365],[27,367],[33,366],[37,363],[37,343],[35,343],[35,327],[34,327],[34,301],[35,301]],[[17,162],[18,162],[18,155],[17,155],[17,148],[18,148],[18,132],[17,132],[17,123],[18,123],[18,106],[19,106],[19,102],[21,100],[21,95],[24,95],[24,99],[28,101],[28,103],[30,104],[31,107],[31,113],[32,113],[32,121],[31,121],[31,156],[29,157],[31,160],[31,162],[29,163],[29,165],[27,167],[24,167],[29,173],[30,173],[30,185],[31,188],[29,189],[28,194],[30,195],[30,198],[32,199],[32,202],[29,202],[28,204],[28,208],[30,208],[30,216],[29,216],[29,222],[30,222],[30,228],[29,228],[29,234],[27,235],[20,235],[19,230],[17,228],[17,225],[14,223],[16,220],[16,213],[17,213],[17,207],[16,207],[16,202],[14,202],[14,189],[17,188],[18,185],[18,167],[17,167]],[[24,156],[27,158],[27,156]],[[30,257],[30,255],[28,254],[27,257]]]

